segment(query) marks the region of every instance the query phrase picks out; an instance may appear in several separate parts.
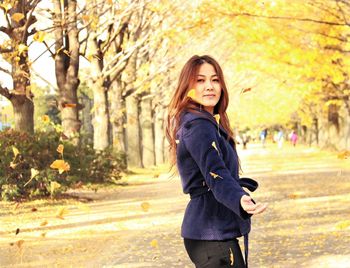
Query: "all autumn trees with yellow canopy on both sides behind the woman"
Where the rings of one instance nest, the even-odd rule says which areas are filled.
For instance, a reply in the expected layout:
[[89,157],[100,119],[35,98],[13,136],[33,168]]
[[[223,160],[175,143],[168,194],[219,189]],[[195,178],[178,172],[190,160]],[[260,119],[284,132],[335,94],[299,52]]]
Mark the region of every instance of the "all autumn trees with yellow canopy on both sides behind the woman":
[[231,96],[235,124],[285,124],[296,110],[310,128],[340,107],[350,116],[345,0],[4,0],[0,9],[0,71],[13,80],[0,94],[13,105],[15,128],[34,131],[29,55],[42,43],[55,61],[64,136],[78,142],[83,80],[92,90],[94,148],[126,152],[132,166],[164,161],[165,106],[177,63],[192,54],[210,51],[234,92],[250,89]]

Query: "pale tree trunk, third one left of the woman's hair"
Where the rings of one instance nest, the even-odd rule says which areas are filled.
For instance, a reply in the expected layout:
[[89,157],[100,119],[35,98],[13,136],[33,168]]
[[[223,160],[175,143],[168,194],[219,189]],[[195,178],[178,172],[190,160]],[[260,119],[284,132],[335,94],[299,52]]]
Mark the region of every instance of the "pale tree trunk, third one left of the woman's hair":
[[127,162],[128,167],[143,167],[141,158],[141,135],[139,126],[139,100],[126,98],[127,107]]

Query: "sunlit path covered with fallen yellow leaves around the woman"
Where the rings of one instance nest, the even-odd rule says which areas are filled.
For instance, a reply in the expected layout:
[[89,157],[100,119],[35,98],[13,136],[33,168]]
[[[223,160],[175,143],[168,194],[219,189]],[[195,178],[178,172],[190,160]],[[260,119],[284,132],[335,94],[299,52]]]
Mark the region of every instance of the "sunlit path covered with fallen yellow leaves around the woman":
[[[240,157],[260,183],[254,198],[269,203],[253,218],[250,267],[350,267],[350,160],[272,144]],[[80,200],[1,202],[0,266],[192,267],[179,236],[188,197],[156,173]]]

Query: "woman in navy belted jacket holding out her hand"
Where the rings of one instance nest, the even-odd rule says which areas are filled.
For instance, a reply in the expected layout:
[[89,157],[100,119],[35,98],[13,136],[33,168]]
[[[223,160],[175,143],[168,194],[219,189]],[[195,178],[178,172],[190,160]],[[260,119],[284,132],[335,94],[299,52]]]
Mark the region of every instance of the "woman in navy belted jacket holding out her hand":
[[193,56],[183,67],[169,105],[167,138],[183,191],[190,194],[181,236],[196,267],[245,267],[237,237],[245,237],[248,255],[250,217],[266,209],[242,186],[239,160],[226,114],[228,92],[219,64]]

